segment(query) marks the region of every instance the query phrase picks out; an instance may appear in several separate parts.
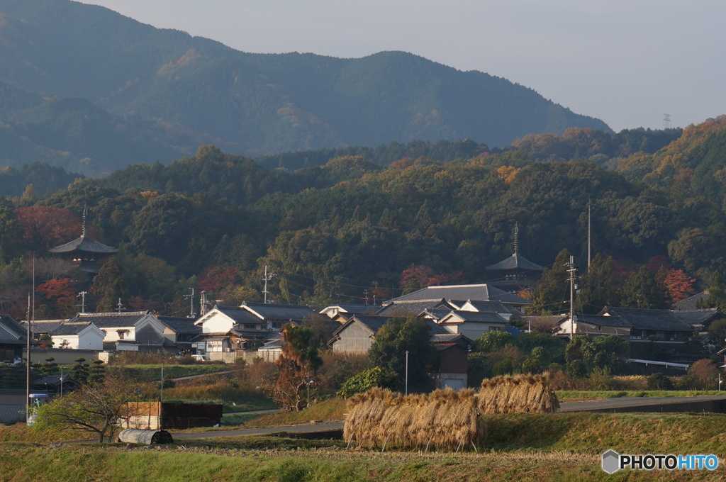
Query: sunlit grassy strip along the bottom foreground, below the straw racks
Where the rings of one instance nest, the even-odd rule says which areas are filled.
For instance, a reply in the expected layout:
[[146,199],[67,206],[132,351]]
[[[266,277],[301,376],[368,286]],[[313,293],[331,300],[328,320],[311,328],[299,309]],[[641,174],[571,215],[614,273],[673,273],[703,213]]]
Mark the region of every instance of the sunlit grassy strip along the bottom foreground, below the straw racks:
[[0,446],[7,482],[126,481],[717,481],[714,473],[607,475],[600,458],[570,453],[420,454],[340,449],[125,449]]

